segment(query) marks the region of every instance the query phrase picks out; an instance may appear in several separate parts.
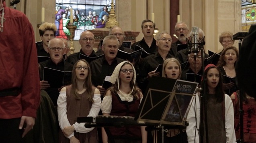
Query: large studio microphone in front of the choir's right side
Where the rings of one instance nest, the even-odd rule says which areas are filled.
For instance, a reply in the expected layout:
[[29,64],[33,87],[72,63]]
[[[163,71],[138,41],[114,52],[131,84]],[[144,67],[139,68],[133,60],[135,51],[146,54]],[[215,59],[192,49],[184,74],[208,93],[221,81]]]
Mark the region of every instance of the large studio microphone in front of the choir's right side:
[[191,35],[191,52],[198,54],[199,48],[199,28],[196,26],[192,27]]

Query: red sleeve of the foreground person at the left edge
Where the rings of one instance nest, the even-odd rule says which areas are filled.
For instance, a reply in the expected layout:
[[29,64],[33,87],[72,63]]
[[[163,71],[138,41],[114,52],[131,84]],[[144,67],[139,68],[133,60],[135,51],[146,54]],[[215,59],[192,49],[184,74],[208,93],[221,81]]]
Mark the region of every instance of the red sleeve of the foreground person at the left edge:
[[[24,15],[25,16],[25,15]],[[24,65],[23,81],[21,86],[22,115],[36,117],[37,108],[40,101],[40,79],[37,63],[37,48],[35,45],[35,35],[29,20],[23,18],[24,24]]]

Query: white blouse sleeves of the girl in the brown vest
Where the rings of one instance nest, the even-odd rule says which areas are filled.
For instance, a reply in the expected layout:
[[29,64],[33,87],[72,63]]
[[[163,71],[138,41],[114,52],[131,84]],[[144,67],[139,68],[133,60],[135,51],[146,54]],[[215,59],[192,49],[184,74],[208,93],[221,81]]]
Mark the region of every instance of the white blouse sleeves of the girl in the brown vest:
[[[94,94],[93,101],[94,101],[94,103],[92,103],[92,107],[91,107],[90,112],[87,115],[87,117],[97,116],[100,111],[100,108],[101,108],[100,94]],[[67,94],[66,94],[66,92],[64,92],[64,91],[59,92],[57,104],[58,104],[57,111],[58,111],[59,127],[61,128],[61,130],[63,130],[65,127],[71,126],[68,121],[68,116],[67,116]],[[92,127],[92,128],[84,127],[85,123],[77,123],[76,122],[73,125],[74,125],[76,132],[78,132],[78,133],[88,133],[94,129],[94,127]],[[68,139],[70,139],[70,137],[73,137],[73,136],[74,136],[74,132],[68,137]]]

